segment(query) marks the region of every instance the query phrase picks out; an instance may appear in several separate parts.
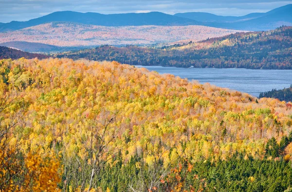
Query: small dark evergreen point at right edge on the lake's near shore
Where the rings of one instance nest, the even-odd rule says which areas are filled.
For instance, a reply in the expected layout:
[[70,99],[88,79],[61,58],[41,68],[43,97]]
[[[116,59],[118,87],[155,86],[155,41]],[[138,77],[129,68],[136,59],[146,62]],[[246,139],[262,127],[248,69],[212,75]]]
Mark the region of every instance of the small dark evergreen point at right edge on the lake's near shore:
[[270,97],[270,98],[276,98],[280,101],[292,101],[292,86],[289,88],[284,89],[273,89],[271,91],[262,92],[259,94],[259,98],[263,97]]

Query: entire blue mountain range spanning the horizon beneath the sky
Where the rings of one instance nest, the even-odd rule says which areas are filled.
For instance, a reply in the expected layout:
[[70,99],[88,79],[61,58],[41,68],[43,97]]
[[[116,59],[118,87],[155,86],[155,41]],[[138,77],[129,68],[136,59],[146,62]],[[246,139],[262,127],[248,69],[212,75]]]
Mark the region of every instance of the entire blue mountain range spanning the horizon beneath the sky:
[[160,12],[104,15],[99,13],[62,11],[29,21],[0,23],[0,32],[15,31],[54,21],[100,26],[203,25],[225,29],[262,31],[275,29],[282,25],[292,25],[292,4],[276,8],[267,13],[252,13],[241,17],[223,17],[200,12],[178,13],[173,16]]

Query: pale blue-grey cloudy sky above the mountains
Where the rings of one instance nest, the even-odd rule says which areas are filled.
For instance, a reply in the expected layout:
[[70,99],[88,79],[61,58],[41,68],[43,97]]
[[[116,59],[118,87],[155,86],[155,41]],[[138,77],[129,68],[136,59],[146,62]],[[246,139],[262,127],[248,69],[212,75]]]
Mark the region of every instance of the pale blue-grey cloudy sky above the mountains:
[[25,21],[55,11],[168,14],[208,12],[222,16],[242,16],[267,12],[292,0],[0,0],[0,22]]

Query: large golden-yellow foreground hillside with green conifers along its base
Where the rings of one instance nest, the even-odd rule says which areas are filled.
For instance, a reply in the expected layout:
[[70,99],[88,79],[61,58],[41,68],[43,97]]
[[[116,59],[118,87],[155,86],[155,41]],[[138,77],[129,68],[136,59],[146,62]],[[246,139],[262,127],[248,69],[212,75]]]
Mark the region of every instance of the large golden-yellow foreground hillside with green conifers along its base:
[[284,191],[292,108],[117,62],[0,61],[0,190]]

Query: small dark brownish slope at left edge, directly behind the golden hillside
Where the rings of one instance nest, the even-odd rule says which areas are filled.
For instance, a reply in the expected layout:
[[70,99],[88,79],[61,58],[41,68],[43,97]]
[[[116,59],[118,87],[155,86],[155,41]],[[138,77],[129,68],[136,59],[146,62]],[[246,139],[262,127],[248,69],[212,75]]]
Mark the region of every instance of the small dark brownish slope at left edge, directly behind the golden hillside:
[[19,59],[21,57],[24,57],[27,59],[33,59],[36,57],[39,59],[44,59],[44,58],[48,58],[49,56],[43,55],[43,54],[30,53],[30,52],[22,52],[20,50],[0,46],[0,59],[9,59],[9,58]]

